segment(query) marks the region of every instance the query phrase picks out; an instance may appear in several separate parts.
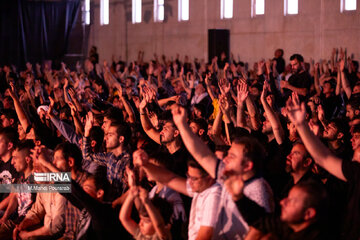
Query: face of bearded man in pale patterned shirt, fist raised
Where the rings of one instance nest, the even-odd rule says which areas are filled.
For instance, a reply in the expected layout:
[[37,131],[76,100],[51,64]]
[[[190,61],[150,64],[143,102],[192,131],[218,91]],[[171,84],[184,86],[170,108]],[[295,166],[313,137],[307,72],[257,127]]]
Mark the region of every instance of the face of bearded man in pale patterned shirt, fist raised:
[[225,172],[233,174],[243,174],[244,166],[248,161],[244,155],[245,147],[242,144],[233,143],[224,158]]

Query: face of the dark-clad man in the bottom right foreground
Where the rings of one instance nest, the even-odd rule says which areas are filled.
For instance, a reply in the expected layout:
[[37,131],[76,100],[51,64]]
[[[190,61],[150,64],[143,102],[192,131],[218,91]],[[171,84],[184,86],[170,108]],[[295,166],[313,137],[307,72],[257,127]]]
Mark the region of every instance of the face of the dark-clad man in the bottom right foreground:
[[281,220],[289,224],[304,222],[306,193],[293,187],[289,195],[280,201]]

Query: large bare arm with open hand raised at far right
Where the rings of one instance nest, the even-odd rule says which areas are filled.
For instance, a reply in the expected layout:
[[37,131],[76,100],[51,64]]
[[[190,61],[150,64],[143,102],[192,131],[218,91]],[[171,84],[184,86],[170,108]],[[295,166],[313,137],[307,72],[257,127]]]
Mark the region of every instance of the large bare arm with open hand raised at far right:
[[342,160],[336,157],[325,145],[314,135],[305,121],[305,103],[300,104],[296,93],[287,101],[288,116],[296,126],[296,129],[310,155],[315,162],[335,177],[346,181],[342,172]]

